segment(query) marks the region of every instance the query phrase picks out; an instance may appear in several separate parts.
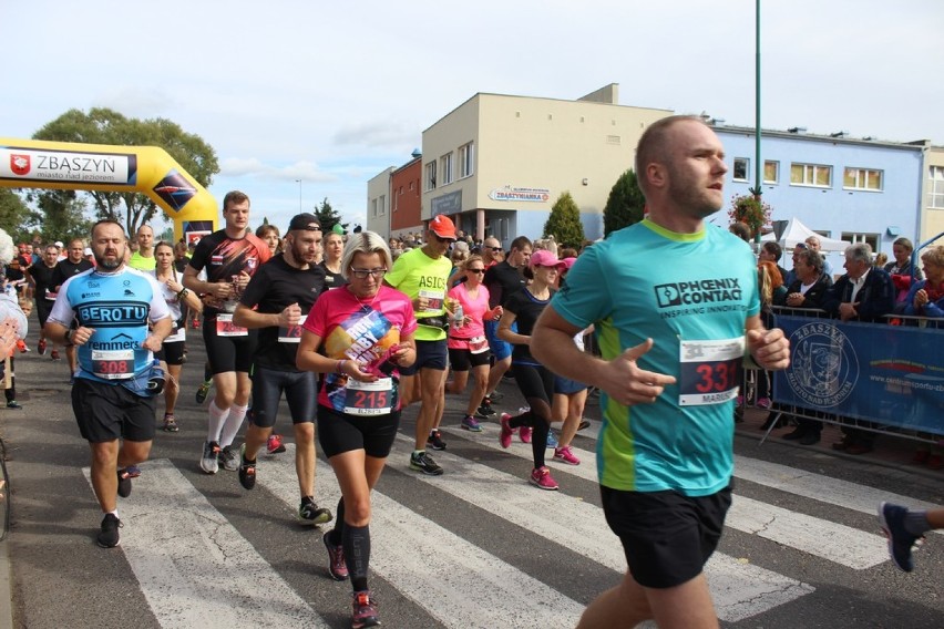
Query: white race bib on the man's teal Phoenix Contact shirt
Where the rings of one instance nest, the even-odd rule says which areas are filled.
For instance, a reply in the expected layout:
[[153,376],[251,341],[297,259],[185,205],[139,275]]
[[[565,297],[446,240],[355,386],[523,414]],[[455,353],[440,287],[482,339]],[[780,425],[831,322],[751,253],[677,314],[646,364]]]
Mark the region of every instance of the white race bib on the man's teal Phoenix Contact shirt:
[[681,341],[678,404],[721,404],[738,395],[743,337],[719,341]]

